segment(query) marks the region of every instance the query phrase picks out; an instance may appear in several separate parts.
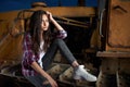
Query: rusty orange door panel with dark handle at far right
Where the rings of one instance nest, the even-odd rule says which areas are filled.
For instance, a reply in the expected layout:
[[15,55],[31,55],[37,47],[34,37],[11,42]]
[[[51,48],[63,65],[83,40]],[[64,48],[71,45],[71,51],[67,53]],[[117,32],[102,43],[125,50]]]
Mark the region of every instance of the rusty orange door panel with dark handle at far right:
[[130,51],[130,0],[112,0],[106,50]]

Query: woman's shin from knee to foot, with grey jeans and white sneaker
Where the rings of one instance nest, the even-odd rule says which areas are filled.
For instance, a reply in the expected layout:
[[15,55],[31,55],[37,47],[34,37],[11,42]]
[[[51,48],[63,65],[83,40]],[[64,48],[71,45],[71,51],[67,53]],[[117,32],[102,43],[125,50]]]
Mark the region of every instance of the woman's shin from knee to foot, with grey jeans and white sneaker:
[[74,78],[80,79],[83,78],[88,82],[95,82],[96,77],[89,72],[87,72],[83,65],[79,65],[73,53],[67,48],[66,44],[62,39],[56,39],[56,45],[64,58],[68,60],[68,62],[74,66]]

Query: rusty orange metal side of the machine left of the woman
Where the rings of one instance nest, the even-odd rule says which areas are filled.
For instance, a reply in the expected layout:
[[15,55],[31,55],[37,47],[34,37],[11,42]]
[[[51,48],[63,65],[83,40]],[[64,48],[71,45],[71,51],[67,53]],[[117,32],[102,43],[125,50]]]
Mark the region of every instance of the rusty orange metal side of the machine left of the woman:
[[[23,21],[0,22],[0,62],[20,61],[22,58]],[[17,35],[20,34],[20,35]]]

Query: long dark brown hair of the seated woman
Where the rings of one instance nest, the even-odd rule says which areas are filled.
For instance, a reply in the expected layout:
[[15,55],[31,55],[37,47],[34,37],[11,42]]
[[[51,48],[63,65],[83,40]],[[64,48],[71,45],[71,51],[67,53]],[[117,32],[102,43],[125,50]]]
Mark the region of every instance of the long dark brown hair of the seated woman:
[[[42,22],[43,14],[47,14],[47,12],[39,10],[39,11],[34,12],[30,17],[29,33],[30,33],[31,40],[32,40],[32,50],[35,53],[38,53],[38,51],[40,49],[40,30],[41,30],[41,22]],[[47,48],[50,44],[50,38],[51,38],[50,26],[49,26],[48,30],[43,32],[42,36],[43,36],[43,40],[44,40],[43,50],[47,51]]]

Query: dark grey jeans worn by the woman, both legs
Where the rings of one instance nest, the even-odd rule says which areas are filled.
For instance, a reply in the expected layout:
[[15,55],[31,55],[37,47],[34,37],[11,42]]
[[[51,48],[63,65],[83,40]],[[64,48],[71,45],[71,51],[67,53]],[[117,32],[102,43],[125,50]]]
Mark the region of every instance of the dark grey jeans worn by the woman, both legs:
[[[67,48],[66,44],[62,39],[54,39],[50,45],[50,48],[47,50],[47,53],[42,58],[43,62],[43,70],[47,71],[49,65],[52,63],[56,51],[60,49],[62,55],[72,64],[76,59],[74,58],[73,53]],[[42,83],[47,80],[41,75],[37,76],[26,76],[26,78],[34,84],[36,87],[51,87],[50,84],[43,85]]]

